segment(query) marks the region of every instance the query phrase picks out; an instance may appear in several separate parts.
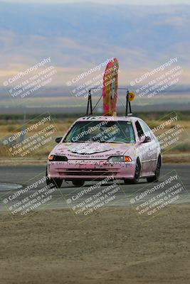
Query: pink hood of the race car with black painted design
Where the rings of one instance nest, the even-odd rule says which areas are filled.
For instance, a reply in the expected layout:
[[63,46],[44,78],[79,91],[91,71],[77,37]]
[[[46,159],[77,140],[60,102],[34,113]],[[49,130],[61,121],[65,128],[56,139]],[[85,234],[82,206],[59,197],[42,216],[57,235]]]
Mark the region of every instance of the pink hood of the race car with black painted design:
[[65,155],[68,159],[104,159],[112,155],[124,155],[133,146],[134,144],[129,143],[59,143],[53,148],[51,155]]

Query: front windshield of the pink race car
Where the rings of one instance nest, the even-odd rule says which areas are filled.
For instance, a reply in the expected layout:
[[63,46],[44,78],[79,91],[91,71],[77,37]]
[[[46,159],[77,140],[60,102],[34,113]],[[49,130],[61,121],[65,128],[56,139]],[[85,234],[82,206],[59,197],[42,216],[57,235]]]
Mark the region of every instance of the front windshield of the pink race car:
[[78,121],[63,142],[134,143],[130,121]]

